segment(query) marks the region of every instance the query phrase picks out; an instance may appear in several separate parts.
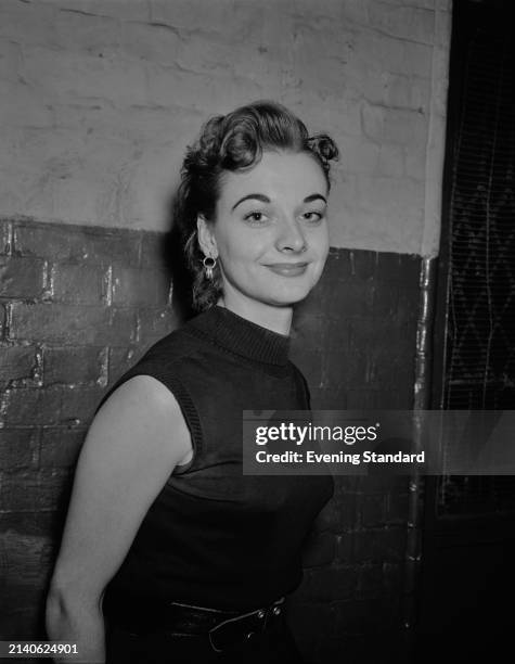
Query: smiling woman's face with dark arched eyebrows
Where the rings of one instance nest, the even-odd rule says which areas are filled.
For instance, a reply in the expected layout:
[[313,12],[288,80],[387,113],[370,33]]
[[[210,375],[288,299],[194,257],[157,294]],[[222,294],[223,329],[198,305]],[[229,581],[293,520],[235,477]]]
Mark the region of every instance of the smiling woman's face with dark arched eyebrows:
[[218,257],[226,306],[307,296],[327,256],[326,199],[322,168],[306,153],[263,152],[250,170],[224,174],[215,224],[201,219],[198,230]]

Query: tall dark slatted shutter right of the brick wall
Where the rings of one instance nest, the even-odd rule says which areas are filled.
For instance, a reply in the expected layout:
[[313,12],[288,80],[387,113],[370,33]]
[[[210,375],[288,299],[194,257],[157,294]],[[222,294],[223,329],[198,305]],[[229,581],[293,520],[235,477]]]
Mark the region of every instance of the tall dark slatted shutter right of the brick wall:
[[[514,3],[456,2],[434,407],[515,409]],[[440,516],[515,508],[515,477],[443,477],[437,493]]]

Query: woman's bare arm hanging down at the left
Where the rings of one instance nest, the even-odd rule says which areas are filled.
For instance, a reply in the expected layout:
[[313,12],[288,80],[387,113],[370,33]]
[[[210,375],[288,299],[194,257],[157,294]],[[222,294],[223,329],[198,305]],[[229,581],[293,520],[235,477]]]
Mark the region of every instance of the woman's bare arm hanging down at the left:
[[105,662],[104,588],[171,471],[191,454],[177,400],[151,376],[120,385],[93,420],[47,600],[49,637],[77,643],[78,661]]

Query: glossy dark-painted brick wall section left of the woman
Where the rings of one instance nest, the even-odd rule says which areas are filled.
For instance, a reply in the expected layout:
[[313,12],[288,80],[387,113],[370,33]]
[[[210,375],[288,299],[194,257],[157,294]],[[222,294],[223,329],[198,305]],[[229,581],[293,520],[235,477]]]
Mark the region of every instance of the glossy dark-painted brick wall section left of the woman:
[[0,626],[26,638],[94,409],[175,316],[159,233],[28,220],[0,233]]

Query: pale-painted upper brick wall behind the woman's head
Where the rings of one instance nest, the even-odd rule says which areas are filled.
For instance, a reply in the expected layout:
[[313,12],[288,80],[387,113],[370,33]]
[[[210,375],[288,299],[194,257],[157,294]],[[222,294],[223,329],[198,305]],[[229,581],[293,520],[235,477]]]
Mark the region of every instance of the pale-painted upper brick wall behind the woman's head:
[[331,132],[336,246],[436,253],[451,0],[2,0],[0,215],[164,230],[202,122]]

